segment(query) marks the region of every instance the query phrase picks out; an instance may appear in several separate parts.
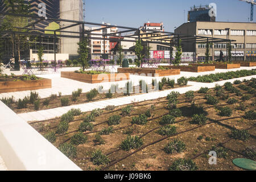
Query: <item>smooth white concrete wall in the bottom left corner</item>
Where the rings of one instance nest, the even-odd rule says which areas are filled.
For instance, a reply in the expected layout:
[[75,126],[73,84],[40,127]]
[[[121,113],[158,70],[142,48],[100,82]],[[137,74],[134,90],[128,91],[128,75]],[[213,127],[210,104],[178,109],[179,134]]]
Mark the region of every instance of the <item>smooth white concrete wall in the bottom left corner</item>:
[[81,170],[1,101],[0,108],[0,156],[7,169]]

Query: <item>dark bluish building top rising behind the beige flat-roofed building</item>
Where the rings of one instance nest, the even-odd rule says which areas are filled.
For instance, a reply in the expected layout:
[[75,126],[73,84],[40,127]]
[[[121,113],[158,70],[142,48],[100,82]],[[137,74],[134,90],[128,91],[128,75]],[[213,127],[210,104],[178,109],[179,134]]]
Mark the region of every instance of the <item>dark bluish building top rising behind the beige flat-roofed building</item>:
[[209,16],[210,10],[211,10],[211,7],[209,5],[191,7],[191,10],[188,11],[188,22],[196,22],[196,21],[215,22],[216,16]]

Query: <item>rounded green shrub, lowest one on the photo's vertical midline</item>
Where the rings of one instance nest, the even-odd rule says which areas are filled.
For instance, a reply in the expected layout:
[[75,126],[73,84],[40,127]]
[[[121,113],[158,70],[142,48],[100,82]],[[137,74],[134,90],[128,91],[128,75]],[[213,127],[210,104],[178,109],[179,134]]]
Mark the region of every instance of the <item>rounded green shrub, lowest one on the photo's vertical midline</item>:
[[131,149],[139,148],[143,144],[143,140],[137,136],[131,137],[130,135],[122,141],[120,147],[122,150],[129,151]]

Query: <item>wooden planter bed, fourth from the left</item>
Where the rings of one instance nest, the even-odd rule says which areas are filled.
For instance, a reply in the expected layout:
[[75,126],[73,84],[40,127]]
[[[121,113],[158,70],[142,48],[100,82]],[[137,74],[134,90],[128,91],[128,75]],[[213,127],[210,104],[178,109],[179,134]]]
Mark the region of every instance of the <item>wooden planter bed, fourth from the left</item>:
[[172,69],[180,69],[183,72],[209,72],[215,70],[215,65],[209,64],[190,64],[189,66],[163,66]]

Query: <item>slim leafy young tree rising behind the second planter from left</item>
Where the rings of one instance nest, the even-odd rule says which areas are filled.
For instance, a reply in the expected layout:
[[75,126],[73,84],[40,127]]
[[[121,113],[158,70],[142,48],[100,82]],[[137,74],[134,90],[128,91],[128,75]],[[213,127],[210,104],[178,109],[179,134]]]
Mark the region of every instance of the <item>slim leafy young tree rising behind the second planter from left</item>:
[[79,43],[79,48],[77,50],[77,53],[79,53],[79,60],[82,65],[82,70],[84,71],[85,68],[89,66],[89,46],[88,46],[88,39],[85,38],[84,40],[81,40]]

